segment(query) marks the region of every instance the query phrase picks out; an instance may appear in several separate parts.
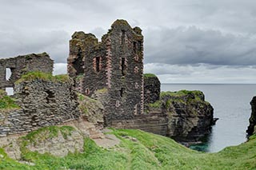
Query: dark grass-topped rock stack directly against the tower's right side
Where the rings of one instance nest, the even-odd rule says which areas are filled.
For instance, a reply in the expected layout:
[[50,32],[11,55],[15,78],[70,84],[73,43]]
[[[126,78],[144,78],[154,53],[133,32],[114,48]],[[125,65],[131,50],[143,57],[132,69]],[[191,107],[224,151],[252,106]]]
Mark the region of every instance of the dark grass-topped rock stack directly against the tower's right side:
[[159,100],[161,83],[154,74],[144,74],[144,104],[154,103]]

